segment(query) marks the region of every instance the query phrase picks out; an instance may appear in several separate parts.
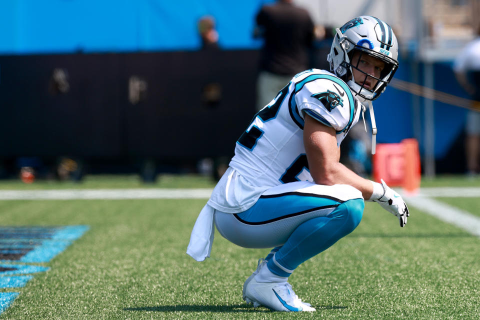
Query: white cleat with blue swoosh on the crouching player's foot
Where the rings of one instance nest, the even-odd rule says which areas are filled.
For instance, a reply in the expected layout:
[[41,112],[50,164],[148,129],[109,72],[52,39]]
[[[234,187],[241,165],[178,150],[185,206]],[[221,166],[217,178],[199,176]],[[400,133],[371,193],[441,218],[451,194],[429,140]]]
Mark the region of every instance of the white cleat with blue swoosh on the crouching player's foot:
[[257,282],[251,277],[244,291],[245,301],[253,302],[253,307],[262,305],[273,311],[315,311],[301,302],[288,282]]

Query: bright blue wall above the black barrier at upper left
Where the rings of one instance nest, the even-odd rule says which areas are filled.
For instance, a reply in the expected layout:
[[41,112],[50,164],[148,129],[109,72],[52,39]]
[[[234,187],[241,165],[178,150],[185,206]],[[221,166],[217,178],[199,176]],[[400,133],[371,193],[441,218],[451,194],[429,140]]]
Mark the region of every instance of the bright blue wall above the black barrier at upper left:
[[222,48],[258,46],[261,0],[0,1],[0,54],[195,50],[197,20],[212,15]]

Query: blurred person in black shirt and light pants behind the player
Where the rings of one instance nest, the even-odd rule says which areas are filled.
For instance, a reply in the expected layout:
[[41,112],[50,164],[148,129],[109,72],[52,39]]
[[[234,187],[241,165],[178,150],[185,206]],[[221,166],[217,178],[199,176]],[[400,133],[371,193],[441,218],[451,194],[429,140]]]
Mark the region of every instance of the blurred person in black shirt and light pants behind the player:
[[264,39],[260,51],[256,109],[260,110],[293,75],[308,68],[314,40],[309,13],[292,0],[263,5],[256,14],[254,37]]

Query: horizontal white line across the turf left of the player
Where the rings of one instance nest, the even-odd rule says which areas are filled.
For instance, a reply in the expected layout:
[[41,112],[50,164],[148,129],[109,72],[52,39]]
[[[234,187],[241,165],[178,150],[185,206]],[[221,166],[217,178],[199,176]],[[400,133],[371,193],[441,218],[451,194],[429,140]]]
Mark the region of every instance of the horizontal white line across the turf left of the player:
[[212,189],[0,190],[0,200],[209,198]]

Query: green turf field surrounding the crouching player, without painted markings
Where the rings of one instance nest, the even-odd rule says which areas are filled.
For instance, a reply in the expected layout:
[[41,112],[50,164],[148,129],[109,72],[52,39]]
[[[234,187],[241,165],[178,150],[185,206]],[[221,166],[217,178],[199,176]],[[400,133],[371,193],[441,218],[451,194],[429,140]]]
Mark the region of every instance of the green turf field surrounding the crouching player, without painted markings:
[[[461,179],[455,178],[455,185]],[[133,179],[94,180],[81,185],[145,187]],[[468,183],[463,185],[472,186]],[[212,185],[200,177],[173,176],[153,186]],[[45,186],[61,187],[72,186]],[[6,181],[0,188],[40,186]],[[49,271],[35,274],[22,288],[0,289],[20,292],[0,319],[480,318],[480,238],[414,207],[400,228],[395,217],[374,203],[366,204],[351,234],[290,277],[295,292],[316,312],[254,309],[242,301],[241,286],[268,250],[241,248],[216,233],[211,258],[196,262],[185,254],[205,201],[0,201],[1,225],[90,227],[50,262],[38,264]],[[462,203],[468,203],[464,210],[480,207],[477,198],[462,198]]]

